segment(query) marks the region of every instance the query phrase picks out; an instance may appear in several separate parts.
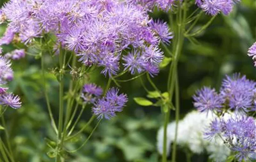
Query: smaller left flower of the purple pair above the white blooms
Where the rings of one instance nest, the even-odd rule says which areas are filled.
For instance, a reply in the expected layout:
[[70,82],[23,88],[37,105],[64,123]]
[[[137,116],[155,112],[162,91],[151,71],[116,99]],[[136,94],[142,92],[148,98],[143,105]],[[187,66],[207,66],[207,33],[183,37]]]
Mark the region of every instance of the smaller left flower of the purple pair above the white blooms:
[[215,89],[210,89],[209,87],[203,87],[201,90],[198,90],[193,99],[195,100],[195,108],[200,112],[214,110],[220,112],[224,102],[222,96],[216,93]]

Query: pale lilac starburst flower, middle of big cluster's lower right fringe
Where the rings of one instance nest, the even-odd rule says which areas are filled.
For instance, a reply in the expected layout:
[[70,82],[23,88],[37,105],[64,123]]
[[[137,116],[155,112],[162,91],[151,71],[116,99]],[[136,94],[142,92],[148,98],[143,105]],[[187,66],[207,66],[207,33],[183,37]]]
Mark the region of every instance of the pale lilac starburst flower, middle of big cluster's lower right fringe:
[[126,69],[128,69],[132,75],[135,74],[137,71],[138,73],[142,72],[142,67],[141,67],[141,56],[140,53],[135,50],[132,52],[129,52],[127,56],[123,56],[123,66]]

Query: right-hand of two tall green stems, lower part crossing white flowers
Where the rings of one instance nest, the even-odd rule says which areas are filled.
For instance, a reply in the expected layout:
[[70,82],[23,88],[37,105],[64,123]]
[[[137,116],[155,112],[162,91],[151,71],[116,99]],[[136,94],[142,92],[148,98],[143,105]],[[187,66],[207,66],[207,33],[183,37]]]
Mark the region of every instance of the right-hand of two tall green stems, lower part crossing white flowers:
[[180,119],[180,99],[179,99],[179,79],[176,70],[176,81],[175,81],[175,137],[173,142],[173,149],[172,149],[172,162],[176,160],[176,141],[178,136],[178,126],[179,126],[179,119]]

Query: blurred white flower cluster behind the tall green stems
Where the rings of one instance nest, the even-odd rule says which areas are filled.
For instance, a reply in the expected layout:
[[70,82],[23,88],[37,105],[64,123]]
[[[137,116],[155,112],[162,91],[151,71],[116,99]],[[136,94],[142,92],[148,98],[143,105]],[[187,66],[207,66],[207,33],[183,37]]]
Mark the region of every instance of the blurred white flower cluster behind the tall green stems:
[[[192,111],[185,118],[179,121],[177,133],[177,145],[188,147],[191,152],[201,154],[207,151],[209,157],[217,162],[224,162],[230,155],[229,148],[223,143],[222,139],[215,138],[212,141],[205,139],[203,132],[216,115]],[[175,121],[168,124],[167,128],[167,151],[170,152],[170,144],[175,139]],[[158,131],[157,148],[160,154],[163,152],[163,128]]]

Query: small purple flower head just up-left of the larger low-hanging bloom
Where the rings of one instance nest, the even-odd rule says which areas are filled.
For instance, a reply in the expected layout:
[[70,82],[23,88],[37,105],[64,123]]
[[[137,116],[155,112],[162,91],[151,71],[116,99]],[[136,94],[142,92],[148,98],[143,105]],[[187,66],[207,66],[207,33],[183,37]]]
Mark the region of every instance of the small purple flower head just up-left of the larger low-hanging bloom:
[[94,83],[85,84],[82,89],[81,98],[84,102],[94,103],[101,96],[103,90]]

